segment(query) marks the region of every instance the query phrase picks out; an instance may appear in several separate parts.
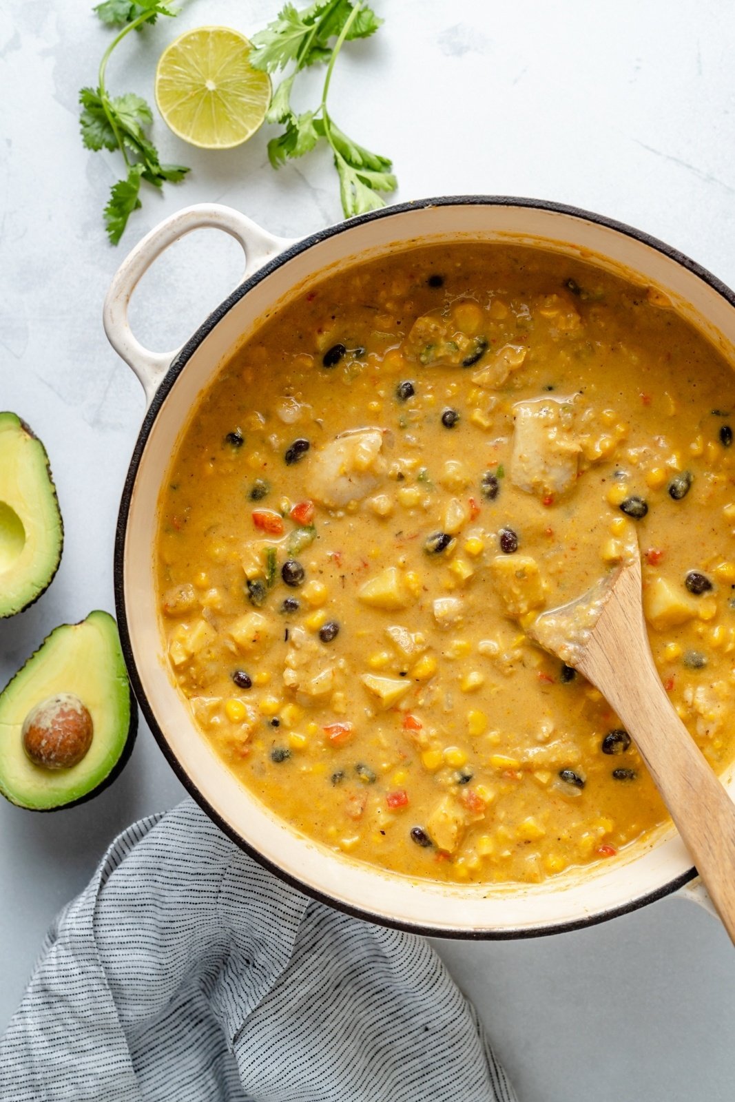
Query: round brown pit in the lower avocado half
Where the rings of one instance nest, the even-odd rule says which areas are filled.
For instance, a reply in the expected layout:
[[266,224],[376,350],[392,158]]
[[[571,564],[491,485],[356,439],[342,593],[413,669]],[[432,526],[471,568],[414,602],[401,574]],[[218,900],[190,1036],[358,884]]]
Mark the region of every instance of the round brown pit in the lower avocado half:
[[91,746],[94,725],[88,709],[73,693],[48,696],[23,721],[23,749],[43,769],[71,769]]

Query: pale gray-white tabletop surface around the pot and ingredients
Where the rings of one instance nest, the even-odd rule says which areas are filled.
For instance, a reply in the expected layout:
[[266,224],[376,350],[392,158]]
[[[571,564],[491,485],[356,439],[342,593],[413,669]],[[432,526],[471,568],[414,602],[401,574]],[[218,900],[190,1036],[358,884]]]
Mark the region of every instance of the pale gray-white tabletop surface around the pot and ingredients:
[[[175,34],[203,23],[252,32],[275,7],[190,0],[175,22],[128,40],[110,86],[152,99],[155,61]],[[386,25],[345,52],[334,112],[394,158],[400,198],[488,192],[575,204],[663,238],[735,284],[731,3],[376,7]],[[0,6],[0,409],[20,413],[46,444],[66,527],[51,591],[0,622],[0,684],[56,624],[114,607],[115,518],[143,398],[106,343],[100,311],[126,250],[201,201],[231,204],[285,236],[341,217],[326,154],[275,175],[268,130],[205,154],[156,121],[164,159],[193,172],[163,198],[147,192],[122,245],[110,248],[100,212],[119,163],[82,148],[76,106],[108,40],[84,2]],[[181,342],[239,271],[237,247],[214,231],[177,245],[133,304],[139,335],[152,347]],[[94,802],[32,814],[0,801],[0,1027],[53,914],[108,842],[181,796],[143,726],[127,770]],[[437,948],[522,1102],[733,1099],[735,957],[690,904],[669,899],[550,939]]]

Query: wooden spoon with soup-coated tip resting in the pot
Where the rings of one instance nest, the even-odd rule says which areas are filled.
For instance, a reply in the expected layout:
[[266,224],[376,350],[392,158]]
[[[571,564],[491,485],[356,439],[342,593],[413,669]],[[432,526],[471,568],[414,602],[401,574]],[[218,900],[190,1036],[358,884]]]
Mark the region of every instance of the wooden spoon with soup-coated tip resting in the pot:
[[659,680],[644,620],[638,548],[579,601],[538,616],[528,634],[583,673],[617,712],[735,943],[735,803]]

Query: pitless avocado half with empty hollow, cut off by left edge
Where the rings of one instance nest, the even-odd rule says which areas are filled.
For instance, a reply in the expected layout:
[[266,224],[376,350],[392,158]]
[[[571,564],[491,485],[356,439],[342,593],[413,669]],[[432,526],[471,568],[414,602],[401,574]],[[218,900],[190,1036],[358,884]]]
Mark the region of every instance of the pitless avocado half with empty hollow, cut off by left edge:
[[0,618],[41,596],[64,531],[46,450],[14,413],[0,413]]

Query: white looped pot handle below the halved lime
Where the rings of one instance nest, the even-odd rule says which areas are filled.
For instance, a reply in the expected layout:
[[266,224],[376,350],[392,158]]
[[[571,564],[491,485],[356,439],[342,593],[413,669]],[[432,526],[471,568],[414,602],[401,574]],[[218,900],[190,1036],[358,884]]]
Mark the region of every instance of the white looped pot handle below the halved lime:
[[274,237],[239,210],[218,203],[198,203],[184,207],[155,226],[138,242],[112,277],[102,309],[102,323],[107,339],[140,379],[148,404],[183,345],[171,352],[150,352],[144,348],[128,322],[130,299],[143,273],[170,245],[194,229],[204,228],[221,229],[239,242],[245,252],[244,280],[271,257],[293,245],[290,238]]

